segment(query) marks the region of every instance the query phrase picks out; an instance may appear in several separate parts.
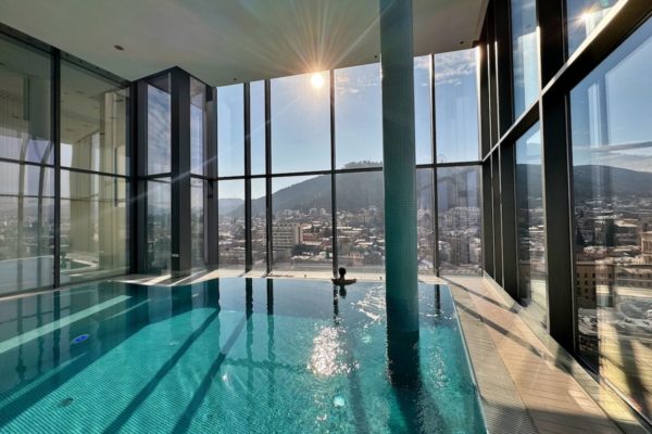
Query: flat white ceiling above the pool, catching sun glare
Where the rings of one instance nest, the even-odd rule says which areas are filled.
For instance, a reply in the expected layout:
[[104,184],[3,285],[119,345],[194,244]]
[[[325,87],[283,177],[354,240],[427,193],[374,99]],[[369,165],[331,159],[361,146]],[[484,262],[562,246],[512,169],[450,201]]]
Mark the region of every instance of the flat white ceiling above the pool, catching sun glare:
[[[487,0],[413,2],[414,55],[469,48],[478,38]],[[0,22],[127,79],[180,66],[222,86],[374,62],[378,4],[0,0]]]

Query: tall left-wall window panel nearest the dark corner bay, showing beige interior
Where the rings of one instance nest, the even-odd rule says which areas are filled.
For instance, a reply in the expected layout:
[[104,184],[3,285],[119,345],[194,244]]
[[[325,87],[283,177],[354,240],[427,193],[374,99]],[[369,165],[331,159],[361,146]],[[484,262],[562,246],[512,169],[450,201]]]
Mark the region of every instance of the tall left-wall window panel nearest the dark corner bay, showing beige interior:
[[60,106],[61,283],[125,273],[129,90],[62,61]]

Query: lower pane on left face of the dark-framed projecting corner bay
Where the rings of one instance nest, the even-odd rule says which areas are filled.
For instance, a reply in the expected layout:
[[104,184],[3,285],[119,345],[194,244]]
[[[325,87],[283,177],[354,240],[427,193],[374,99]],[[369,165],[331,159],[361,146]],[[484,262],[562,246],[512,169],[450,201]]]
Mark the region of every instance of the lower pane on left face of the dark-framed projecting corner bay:
[[170,269],[171,202],[168,178],[147,182],[147,268],[150,272]]

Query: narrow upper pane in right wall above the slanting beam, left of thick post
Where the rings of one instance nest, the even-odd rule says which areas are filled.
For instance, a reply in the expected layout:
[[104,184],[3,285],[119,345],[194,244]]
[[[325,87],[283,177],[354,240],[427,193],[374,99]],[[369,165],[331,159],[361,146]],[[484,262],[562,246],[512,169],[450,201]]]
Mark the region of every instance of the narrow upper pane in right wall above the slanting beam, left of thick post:
[[518,118],[539,94],[536,0],[512,0],[512,62],[514,117]]

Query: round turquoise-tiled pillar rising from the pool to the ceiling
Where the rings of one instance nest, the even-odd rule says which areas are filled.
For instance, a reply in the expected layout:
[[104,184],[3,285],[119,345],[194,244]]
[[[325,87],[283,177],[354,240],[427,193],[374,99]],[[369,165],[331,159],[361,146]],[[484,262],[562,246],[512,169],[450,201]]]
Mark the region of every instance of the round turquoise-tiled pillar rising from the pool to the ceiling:
[[[388,356],[418,340],[412,0],[380,0]],[[392,349],[393,348],[393,349]],[[397,349],[400,352],[400,349]]]

